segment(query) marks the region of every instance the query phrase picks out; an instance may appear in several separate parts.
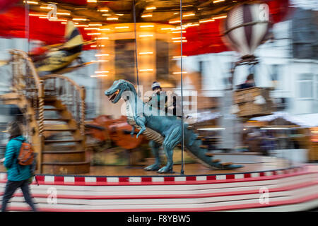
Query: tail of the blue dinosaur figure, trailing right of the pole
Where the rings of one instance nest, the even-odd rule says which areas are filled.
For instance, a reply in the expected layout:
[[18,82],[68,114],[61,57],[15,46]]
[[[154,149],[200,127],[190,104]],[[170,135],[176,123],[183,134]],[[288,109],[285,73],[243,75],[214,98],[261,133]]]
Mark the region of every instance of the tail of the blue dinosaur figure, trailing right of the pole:
[[192,126],[185,126],[184,145],[187,153],[202,165],[211,169],[237,169],[242,165],[233,165],[232,162],[220,162],[214,159],[213,154],[208,152],[208,147],[203,144],[198,134],[194,133]]

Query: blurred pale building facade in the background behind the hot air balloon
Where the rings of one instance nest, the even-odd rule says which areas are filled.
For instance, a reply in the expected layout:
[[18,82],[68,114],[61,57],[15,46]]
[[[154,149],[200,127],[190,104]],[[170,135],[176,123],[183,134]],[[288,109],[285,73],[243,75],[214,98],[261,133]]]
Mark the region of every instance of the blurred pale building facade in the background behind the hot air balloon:
[[[314,20],[316,18],[316,20]],[[297,8],[291,20],[273,26],[273,40],[259,46],[259,64],[238,66],[234,85],[244,83],[253,72],[256,85],[272,87],[278,110],[290,114],[318,113],[317,11]],[[202,93],[223,97],[235,52],[202,54],[183,60],[186,71],[201,71]]]

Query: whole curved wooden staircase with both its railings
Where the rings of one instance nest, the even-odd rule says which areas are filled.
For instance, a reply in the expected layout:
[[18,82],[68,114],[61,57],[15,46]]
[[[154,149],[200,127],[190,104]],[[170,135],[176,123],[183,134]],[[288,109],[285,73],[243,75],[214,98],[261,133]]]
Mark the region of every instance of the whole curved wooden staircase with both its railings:
[[4,105],[17,105],[24,116],[24,135],[38,153],[41,174],[83,174],[86,161],[85,88],[70,78],[39,78],[25,52],[13,49],[12,93],[0,96]]

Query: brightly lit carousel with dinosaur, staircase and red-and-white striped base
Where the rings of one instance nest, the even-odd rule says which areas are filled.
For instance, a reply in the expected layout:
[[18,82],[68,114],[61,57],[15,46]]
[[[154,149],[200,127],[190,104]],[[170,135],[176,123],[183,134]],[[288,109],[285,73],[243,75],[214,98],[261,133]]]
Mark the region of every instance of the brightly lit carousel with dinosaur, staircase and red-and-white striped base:
[[[233,81],[237,66],[259,64],[254,51],[273,39],[271,27],[287,16],[282,8],[288,8],[288,1],[10,4],[0,5],[0,18],[8,21],[0,26],[0,35],[42,42],[35,49],[9,50],[4,66],[11,88],[0,95],[2,105],[19,109],[25,136],[37,153],[31,191],[38,210],[317,208],[314,165],[264,156],[257,148],[252,152],[220,148],[224,139],[220,100],[204,97],[200,73],[184,69],[186,57],[237,52],[240,57],[232,62],[227,89],[232,114],[245,126],[255,117],[270,116],[276,110],[271,88],[252,83],[238,88]],[[20,23],[26,32],[19,32]],[[94,59],[85,61],[83,52],[93,52]],[[86,82],[79,85],[76,70],[92,66],[95,73],[86,74],[84,80],[96,83],[93,100],[98,102],[98,114],[88,118]],[[179,115],[152,114],[158,111],[146,102],[153,81],[175,93]],[[6,169],[1,165],[1,194],[5,184]],[[17,191],[8,210],[28,210],[23,201]]]

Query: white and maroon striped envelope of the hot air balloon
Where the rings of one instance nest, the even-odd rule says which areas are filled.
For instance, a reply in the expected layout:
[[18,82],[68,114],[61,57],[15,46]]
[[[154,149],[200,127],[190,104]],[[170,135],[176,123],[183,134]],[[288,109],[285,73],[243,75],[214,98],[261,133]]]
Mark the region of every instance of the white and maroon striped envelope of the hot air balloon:
[[242,4],[229,11],[225,20],[225,43],[241,57],[254,54],[269,36],[267,4]]

